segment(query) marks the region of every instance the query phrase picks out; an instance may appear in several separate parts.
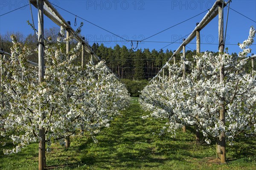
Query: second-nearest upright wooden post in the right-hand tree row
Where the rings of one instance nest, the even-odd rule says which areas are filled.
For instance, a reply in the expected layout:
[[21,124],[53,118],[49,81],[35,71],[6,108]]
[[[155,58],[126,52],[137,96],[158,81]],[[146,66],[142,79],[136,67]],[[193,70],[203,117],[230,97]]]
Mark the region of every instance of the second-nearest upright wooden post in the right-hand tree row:
[[[196,26],[198,26],[199,23],[196,23]],[[196,30],[196,54],[200,54],[200,31],[201,30]],[[198,65],[198,59],[196,59],[196,68],[200,71],[199,65]],[[197,79],[200,79],[200,76],[197,77]],[[197,93],[196,96],[199,96]],[[196,119],[199,119],[199,116],[196,116]],[[200,142],[200,133],[199,133],[199,127],[198,123],[195,124],[195,143]]]

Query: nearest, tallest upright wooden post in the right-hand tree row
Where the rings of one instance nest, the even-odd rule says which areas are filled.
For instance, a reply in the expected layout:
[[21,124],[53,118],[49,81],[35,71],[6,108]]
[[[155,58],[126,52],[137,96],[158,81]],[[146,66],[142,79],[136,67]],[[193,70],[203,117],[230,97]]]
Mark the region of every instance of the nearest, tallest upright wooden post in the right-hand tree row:
[[[219,32],[219,57],[224,53],[224,38],[223,38],[223,5],[220,4],[218,6],[218,32]],[[224,83],[224,65],[220,65],[220,83]],[[225,99],[221,98],[221,109],[220,109],[220,115],[219,119],[220,121],[225,125]],[[226,162],[226,137],[225,137],[225,131],[221,132],[220,137],[218,138],[219,142],[217,144],[219,145],[217,148],[217,154],[220,155],[221,163]],[[220,148],[220,149],[219,149]],[[218,153],[219,152],[219,153]]]

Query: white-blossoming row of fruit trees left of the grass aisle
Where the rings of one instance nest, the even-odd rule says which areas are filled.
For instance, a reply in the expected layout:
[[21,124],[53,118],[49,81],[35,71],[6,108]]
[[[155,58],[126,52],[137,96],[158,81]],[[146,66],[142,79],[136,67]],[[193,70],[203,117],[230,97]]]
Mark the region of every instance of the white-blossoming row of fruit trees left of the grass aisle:
[[[57,42],[45,40],[45,76],[41,83],[38,68],[28,65],[28,57],[37,54],[37,50],[17,42],[12,35],[12,55],[1,55],[1,143],[9,138],[15,144],[13,149],[4,150],[6,154],[17,153],[41,140],[47,143],[48,151],[55,141],[69,147],[69,136],[78,129],[93,137],[102,127],[109,127],[113,116],[129,105],[125,85],[108,73],[104,62],[89,62],[84,68],[77,65],[81,43],[67,57],[64,34],[62,28]],[[40,137],[40,127],[44,128],[44,139]],[[41,149],[45,152],[45,148]]]

